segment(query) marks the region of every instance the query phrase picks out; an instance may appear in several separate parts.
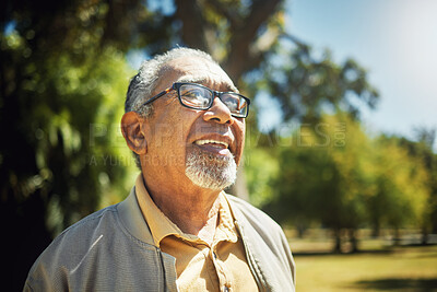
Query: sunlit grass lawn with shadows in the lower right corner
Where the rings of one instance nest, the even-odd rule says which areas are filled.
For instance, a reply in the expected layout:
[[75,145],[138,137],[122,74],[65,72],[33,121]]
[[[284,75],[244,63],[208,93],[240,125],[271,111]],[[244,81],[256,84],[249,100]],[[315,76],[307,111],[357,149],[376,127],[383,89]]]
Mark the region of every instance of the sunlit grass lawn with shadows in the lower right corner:
[[323,236],[291,240],[298,292],[437,291],[437,245],[393,247],[365,238],[363,252],[333,255]]

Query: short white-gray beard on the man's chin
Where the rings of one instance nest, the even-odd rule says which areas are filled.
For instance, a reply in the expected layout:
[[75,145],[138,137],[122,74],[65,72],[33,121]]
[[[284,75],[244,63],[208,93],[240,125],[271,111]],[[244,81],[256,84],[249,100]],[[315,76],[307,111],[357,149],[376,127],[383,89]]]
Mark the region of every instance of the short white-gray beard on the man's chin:
[[187,153],[185,174],[197,186],[223,190],[235,183],[237,165],[234,156],[218,156],[200,149]]

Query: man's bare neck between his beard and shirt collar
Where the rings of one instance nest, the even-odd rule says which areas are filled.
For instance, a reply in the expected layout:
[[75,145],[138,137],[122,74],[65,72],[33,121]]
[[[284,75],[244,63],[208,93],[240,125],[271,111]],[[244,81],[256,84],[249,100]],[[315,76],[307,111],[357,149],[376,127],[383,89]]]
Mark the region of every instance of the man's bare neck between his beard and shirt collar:
[[147,182],[144,186],[160,210],[182,232],[198,235],[211,244],[218,222],[218,190],[194,186],[191,182],[184,188],[173,184]]

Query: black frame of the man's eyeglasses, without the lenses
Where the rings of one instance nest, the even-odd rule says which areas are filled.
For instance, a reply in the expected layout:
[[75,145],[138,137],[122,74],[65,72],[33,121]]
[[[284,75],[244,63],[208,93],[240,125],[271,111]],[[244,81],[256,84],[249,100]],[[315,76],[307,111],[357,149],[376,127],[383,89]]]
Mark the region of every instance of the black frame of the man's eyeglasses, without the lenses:
[[[160,92],[158,94],[154,95],[153,97],[151,97],[150,100],[147,100],[147,101],[146,101],[145,103],[143,103],[142,105],[144,106],[144,105],[151,104],[152,102],[156,101],[156,100],[160,98],[161,96],[163,96],[163,95],[169,93],[170,91],[175,90],[175,91],[177,92],[177,95],[178,95],[178,100],[179,100],[180,105],[182,105],[182,106],[185,106],[185,107],[187,107],[187,108],[200,109],[200,110],[208,110],[208,109],[210,109],[210,108],[212,107],[212,105],[213,105],[213,103],[214,103],[214,98],[211,98],[209,105],[205,106],[205,107],[194,107],[194,106],[189,106],[189,105],[184,104],[182,98],[180,97],[180,91],[179,91],[180,87],[181,87],[182,85],[196,85],[196,86],[205,89],[205,90],[208,90],[208,91],[210,91],[210,92],[212,93],[212,96],[213,96],[213,97],[217,96],[220,101],[222,101],[221,96],[222,96],[223,94],[234,94],[234,95],[238,95],[239,97],[243,97],[243,98],[246,101],[246,104],[247,104],[246,115],[238,115],[238,114],[234,114],[234,113],[232,113],[232,112],[231,112],[231,115],[232,115],[233,117],[236,117],[236,118],[247,118],[247,116],[249,115],[250,100],[249,100],[248,97],[246,97],[246,96],[244,96],[244,95],[241,95],[241,94],[239,94],[239,93],[232,92],[232,91],[231,91],[231,92],[214,91],[214,90],[211,90],[211,89],[209,89],[209,87],[206,87],[206,86],[203,86],[202,84],[199,84],[199,83],[191,83],[191,82],[175,82],[175,83],[173,83],[173,85],[172,85],[170,87],[168,87],[168,89],[166,89],[166,90]],[[222,102],[223,102],[223,101],[222,101]]]

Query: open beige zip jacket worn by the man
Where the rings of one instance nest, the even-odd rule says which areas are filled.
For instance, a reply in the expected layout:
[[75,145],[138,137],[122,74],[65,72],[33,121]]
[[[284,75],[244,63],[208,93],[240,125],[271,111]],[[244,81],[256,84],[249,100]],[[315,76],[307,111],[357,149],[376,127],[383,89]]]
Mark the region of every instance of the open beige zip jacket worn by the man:
[[[260,291],[295,291],[295,265],[281,227],[226,195]],[[33,265],[24,291],[177,291],[175,258],[153,243],[134,188],[126,200],[63,231]]]

